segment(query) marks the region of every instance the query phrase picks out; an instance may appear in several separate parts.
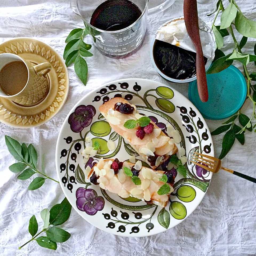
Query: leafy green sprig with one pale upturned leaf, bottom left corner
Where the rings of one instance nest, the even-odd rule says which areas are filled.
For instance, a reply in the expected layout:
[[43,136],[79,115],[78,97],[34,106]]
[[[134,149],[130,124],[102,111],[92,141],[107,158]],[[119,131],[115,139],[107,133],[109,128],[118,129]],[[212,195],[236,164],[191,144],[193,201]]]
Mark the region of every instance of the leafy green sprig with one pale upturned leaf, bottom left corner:
[[[65,197],[61,203],[54,205],[50,211],[48,209],[43,209],[40,215],[43,219],[44,224],[42,231],[40,231],[39,233],[37,233],[37,219],[35,215],[33,215],[29,220],[29,233],[32,235],[32,238],[24,245],[20,246],[19,249],[21,249],[23,246],[27,245],[31,241],[35,240],[41,247],[56,250],[57,243],[66,242],[71,236],[64,229],[55,227],[63,224],[68,220],[71,213],[71,208],[72,207],[69,201],[67,201],[67,198]],[[43,232],[46,232],[46,236],[38,237]]]

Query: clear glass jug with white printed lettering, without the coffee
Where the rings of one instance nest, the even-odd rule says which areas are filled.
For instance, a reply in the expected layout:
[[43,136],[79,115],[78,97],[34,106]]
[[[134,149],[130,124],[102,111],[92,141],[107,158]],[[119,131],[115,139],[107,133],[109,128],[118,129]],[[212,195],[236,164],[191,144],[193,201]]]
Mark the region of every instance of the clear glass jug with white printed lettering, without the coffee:
[[[87,31],[93,37],[95,47],[104,55],[125,58],[139,49],[146,35],[147,14],[159,13],[175,0],[130,0],[142,12],[140,17],[130,26],[121,30],[106,31],[90,24],[96,8],[106,0],[71,0],[71,9],[85,23]],[[148,9],[150,5],[150,9]]]

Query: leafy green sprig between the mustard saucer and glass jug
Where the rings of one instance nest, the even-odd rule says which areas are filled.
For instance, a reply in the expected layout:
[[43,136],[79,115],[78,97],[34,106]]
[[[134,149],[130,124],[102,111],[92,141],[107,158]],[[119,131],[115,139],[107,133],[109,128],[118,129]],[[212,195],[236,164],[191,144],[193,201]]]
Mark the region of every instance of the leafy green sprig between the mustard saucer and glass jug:
[[89,34],[89,29],[73,29],[67,36],[65,43],[67,43],[63,59],[66,60],[66,66],[70,66],[75,63],[75,73],[81,79],[84,85],[87,82],[88,67],[85,59],[83,57],[91,57],[92,53],[89,52],[91,45],[85,43],[83,38]]

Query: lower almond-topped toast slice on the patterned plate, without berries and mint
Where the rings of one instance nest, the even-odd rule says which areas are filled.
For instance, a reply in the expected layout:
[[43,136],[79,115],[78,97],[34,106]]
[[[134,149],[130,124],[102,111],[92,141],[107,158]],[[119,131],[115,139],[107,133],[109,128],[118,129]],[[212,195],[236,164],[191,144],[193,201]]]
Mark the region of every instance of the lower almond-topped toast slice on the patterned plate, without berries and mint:
[[[111,163],[113,161],[114,161],[114,159],[105,159],[105,160],[101,159],[91,169],[91,171],[88,175],[88,179],[95,172],[95,174],[97,174],[96,175],[97,183],[99,184],[99,186],[102,189],[106,189],[112,193],[118,194],[120,197],[123,197],[123,198],[132,196],[132,197],[136,197],[138,199],[142,199],[143,201],[145,201],[145,199],[144,199],[145,193],[150,193],[150,197],[147,198],[150,200],[147,200],[147,203],[153,203],[153,204],[161,206],[161,207],[166,207],[166,205],[169,201],[170,194],[171,194],[171,192],[173,192],[172,185],[167,183],[170,186],[169,193],[164,194],[164,195],[159,195],[157,193],[158,189],[164,184],[164,182],[159,181],[159,178],[161,178],[163,176],[164,171],[154,171],[151,168],[142,166],[141,171],[139,171],[138,177],[141,179],[143,186],[145,185],[144,183],[149,184],[149,186],[145,190],[143,190],[142,185],[136,186],[133,183],[131,177],[127,176],[123,172],[123,167],[128,167],[129,169],[131,169],[131,167],[134,166],[133,163],[124,162],[122,169],[118,170],[118,174],[114,174],[114,171],[112,169],[110,169]],[[106,174],[105,174],[105,171],[102,169],[104,169],[106,171]],[[105,174],[105,175],[103,175],[103,174]],[[146,177],[145,177],[145,175],[146,175]],[[102,176],[103,176],[103,178],[102,178]],[[150,179],[148,179],[148,178],[150,178]],[[144,186],[144,188],[146,186]],[[141,193],[138,193],[137,191],[141,191]]]

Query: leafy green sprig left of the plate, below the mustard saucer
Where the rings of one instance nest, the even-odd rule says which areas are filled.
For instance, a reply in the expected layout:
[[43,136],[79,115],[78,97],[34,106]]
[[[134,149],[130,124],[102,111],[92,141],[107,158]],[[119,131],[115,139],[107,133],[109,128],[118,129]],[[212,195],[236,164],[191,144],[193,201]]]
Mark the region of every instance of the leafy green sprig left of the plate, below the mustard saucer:
[[[50,178],[45,174],[44,166],[43,166],[43,159],[42,159],[42,171],[39,171],[37,168],[37,151],[35,150],[34,146],[30,144],[28,147],[25,143],[22,145],[16,141],[15,139],[5,135],[5,143],[6,146],[13,157],[18,160],[18,163],[14,163],[9,167],[9,170],[13,173],[19,173],[17,179],[25,180],[29,179],[35,173],[39,173],[42,176],[46,177],[36,177],[29,185],[29,190],[39,189],[45,183],[46,179],[51,179],[52,181],[56,181],[53,178]],[[26,169],[27,168],[27,169]]]

